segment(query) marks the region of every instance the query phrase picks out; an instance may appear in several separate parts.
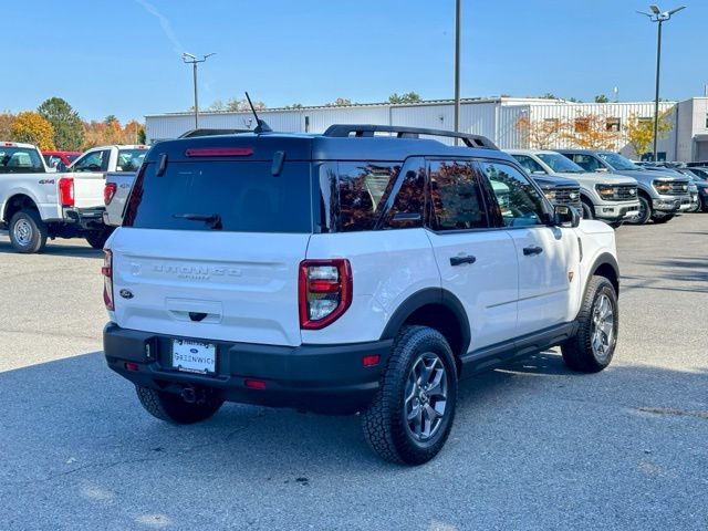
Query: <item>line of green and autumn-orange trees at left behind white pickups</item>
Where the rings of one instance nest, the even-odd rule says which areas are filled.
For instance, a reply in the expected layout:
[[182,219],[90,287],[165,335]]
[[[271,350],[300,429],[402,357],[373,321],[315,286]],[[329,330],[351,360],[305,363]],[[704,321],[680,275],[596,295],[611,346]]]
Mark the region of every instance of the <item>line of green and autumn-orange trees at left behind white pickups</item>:
[[0,113],[0,140],[27,142],[42,150],[83,152],[108,144],[145,144],[145,126],[132,119],[125,125],[108,115],[86,122],[61,97],[50,97],[18,114]]

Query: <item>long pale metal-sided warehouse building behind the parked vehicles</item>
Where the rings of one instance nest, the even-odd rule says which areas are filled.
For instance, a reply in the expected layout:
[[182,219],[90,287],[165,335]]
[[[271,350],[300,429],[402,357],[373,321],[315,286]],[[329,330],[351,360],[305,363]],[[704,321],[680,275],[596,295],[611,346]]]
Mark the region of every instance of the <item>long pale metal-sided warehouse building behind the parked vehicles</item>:
[[[662,102],[659,112],[669,111],[671,131],[659,139],[659,158],[667,160],[708,160],[708,97],[684,102]],[[299,108],[271,108],[259,112],[273,131],[289,133],[322,133],[332,124],[384,124],[412,127],[452,129],[454,102],[426,101],[415,104],[354,104]],[[632,116],[652,119],[653,102],[639,103],[571,103],[564,100],[490,97],[462,100],[460,129],[485,135],[502,149],[530,146],[528,135],[518,126],[524,118],[532,124],[573,121],[579,116],[597,115],[606,121],[607,131],[616,135],[617,150],[637,158],[627,143],[625,125]],[[194,113],[148,115],[148,143],[176,138],[194,128]],[[252,128],[250,112],[204,112],[199,127]],[[552,147],[580,147],[569,139],[558,139]]]

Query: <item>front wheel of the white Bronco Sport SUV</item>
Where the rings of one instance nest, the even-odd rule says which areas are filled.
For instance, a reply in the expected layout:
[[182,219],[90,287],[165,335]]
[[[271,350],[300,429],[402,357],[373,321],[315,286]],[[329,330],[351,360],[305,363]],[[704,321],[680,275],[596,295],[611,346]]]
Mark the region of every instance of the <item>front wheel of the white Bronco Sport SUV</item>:
[[577,314],[577,333],[561,346],[563,361],[573,371],[597,373],[610,365],[617,344],[617,293],[604,277],[593,277]]

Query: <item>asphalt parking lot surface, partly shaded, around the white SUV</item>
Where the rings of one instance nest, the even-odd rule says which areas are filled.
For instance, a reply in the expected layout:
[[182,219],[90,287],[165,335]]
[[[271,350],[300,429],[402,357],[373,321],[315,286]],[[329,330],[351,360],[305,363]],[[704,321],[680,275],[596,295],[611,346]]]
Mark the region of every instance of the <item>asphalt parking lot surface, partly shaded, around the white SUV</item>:
[[376,458],[355,417],[149,417],[103,361],[101,252],[2,236],[0,528],[706,530],[708,215],[617,236],[613,365],[548,352],[465,382],[418,468]]

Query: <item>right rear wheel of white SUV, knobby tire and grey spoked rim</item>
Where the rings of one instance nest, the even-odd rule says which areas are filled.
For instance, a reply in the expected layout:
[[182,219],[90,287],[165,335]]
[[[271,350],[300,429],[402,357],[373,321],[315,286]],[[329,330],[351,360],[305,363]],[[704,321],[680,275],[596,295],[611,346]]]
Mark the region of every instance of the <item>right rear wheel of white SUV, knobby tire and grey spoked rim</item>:
[[382,458],[421,465],[445,446],[455,419],[457,368],[438,331],[405,326],[372,404],[362,413],[366,441]]

